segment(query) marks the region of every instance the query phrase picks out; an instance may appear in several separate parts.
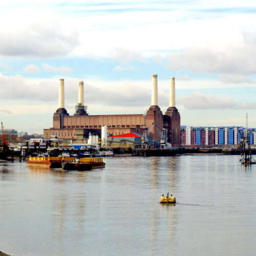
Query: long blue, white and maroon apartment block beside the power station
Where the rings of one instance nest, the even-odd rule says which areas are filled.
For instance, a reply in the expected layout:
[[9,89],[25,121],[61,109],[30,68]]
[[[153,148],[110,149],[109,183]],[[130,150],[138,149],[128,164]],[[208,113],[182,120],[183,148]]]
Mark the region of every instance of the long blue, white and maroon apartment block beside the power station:
[[[181,126],[181,145],[237,145],[246,128],[241,126]],[[248,129],[250,145],[256,145],[256,129]]]

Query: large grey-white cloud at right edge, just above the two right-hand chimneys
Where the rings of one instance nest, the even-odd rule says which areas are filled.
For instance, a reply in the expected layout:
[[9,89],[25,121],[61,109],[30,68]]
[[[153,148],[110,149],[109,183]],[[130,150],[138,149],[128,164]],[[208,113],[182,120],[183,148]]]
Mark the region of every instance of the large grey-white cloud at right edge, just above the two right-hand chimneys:
[[191,45],[167,56],[169,68],[175,70],[187,70],[197,74],[256,73],[256,48],[243,42]]

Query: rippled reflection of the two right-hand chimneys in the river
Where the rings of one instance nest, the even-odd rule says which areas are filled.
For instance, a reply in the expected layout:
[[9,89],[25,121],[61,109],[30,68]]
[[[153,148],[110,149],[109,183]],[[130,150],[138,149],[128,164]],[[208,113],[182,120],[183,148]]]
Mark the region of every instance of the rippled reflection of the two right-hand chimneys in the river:
[[[148,160],[150,161],[151,188],[157,191],[161,188],[157,200],[160,200],[163,193],[166,195],[169,192],[169,194],[175,195],[175,186],[179,175],[178,170],[180,169],[180,157],[152,157]],[[150,252],[154,255],[158,248],[161,247],[162,254],[171,254],[170,252],[175,246],[177,231],[176,205],[159,203],[159,207],[156,207],[155,204],[150,204],[149,207],[151,208]],[[160,239],[161,237],[167,237],[168,239]]]

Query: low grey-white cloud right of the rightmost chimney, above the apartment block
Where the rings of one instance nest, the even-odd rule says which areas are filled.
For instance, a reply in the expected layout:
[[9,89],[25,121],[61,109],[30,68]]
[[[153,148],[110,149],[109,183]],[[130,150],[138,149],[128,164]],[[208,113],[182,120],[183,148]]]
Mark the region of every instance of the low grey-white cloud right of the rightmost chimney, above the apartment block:
[[191,96],[178,96],[177,102],[188,110],[256,109],[256,102],[235,102],[229,96],[204,95],[201,92],[194,92]]

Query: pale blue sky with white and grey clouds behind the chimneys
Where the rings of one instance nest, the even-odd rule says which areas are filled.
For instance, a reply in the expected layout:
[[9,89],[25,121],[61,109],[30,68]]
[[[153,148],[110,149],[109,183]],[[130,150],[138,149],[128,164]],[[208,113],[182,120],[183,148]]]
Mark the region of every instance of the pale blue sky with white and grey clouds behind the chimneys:
[[60,78],[70,115],[81,80],[90,115],[144,114],[157,74],[181,125],[256,127],[255,20],[254,0],[1,1],[0,120],[42,134]]

